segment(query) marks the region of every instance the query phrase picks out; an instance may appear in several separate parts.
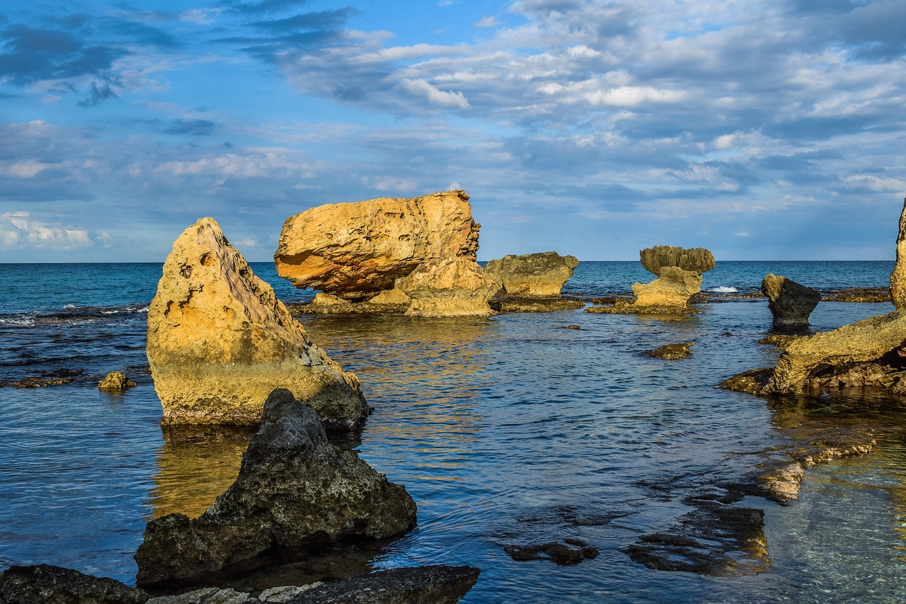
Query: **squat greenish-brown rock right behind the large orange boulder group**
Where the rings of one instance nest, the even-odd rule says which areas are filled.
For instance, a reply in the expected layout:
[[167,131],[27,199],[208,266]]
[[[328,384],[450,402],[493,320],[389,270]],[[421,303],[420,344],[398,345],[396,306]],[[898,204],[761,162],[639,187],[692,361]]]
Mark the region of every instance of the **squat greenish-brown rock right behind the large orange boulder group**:
[[503,296],[560,297],[560,290],[578,266],[579,259],[574,256],[540,252],[491,260],[485,265],[485,272],[500,279]]

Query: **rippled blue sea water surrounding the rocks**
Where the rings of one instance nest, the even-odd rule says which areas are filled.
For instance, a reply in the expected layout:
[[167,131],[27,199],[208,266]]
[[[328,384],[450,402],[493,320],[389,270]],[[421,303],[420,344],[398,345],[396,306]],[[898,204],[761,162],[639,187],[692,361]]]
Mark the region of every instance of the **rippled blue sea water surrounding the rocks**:
[[[306,301],[253,263],[284,301]],[[767,273],[821,291],[885,287],[892,262],[718,262],[703,290],[757,291]],[[164,431],[145,357],[159,264],[0,264],[0,569],[51,563],[134,584],[149,518],[198,515],[235,478],[247,431]],[[576,297],[650,281],[638,262],[583,262]],[[715,299],[682,320],[582,310],[490,318],[300,317],[375,407],[352,443],[419,505],[414,531],[371,568],[481,569],[465,602],[901,602],[906,593],[906,407],[824,396],[788,404],[719,390],[773,365],[764,299]],[[814,330],[892,311],[822,302]],[[564,329],[578,325],[581,329]],[[665,361],[645,352],[693,342]],[[77,373],[81,370],[81,373]],[[97,389],[113,370],[138,386]],[[625,553],[670,528],[690,493],[751,470],[805,420],[860,422],[874,452],[806,471],[801,498],[765,512],[771,565],[747,577],[651,570]],[[557,566],[507,544],[575,537],[601,551]]]

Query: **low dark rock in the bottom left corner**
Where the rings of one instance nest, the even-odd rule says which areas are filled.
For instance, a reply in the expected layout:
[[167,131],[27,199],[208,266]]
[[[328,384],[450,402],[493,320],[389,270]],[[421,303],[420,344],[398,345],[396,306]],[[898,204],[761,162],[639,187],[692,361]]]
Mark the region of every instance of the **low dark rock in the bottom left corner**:
[[3,604],[142,604],[149,594],[118,580],[50,564],[12,566],[0,574]]

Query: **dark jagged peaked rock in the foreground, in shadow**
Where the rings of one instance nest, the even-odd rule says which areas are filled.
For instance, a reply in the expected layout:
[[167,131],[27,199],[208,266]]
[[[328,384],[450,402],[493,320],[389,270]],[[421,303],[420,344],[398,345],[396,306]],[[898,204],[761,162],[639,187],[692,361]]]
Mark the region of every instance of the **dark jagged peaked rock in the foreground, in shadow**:
[[402,486],[334,448],[314,410],[281,388],[267,398],[236,482],[197,519],[149,521],[137,582],[178,583],[254,566],[265,552],[298,556],[343,538],[387,538],[415,518]]

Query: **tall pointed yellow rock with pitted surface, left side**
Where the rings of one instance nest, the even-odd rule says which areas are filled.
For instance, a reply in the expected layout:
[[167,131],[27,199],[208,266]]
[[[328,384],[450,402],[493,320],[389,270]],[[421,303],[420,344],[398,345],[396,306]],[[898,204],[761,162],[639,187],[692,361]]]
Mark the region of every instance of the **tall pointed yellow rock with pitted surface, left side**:
[[148,312],[148,360],[163,424],[249,424],[289,388],[330,429],[361,426],[359,381],[305,334],[213,219],[173,244]]

